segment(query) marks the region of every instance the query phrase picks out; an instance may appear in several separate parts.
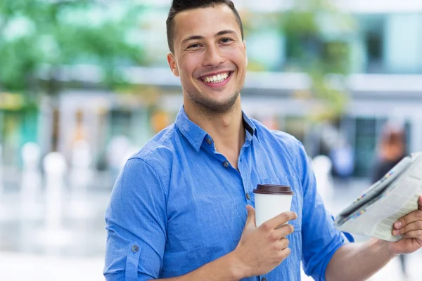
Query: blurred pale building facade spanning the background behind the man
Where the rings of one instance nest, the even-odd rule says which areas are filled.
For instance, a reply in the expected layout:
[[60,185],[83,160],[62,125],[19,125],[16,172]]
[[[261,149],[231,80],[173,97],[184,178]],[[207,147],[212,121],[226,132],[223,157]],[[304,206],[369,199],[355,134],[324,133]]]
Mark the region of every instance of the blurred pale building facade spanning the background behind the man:
[[[274,9],[288,11],[294,1],[234,2],[248,18],[250,11],[261,15],[274,13]],[[259,19],[255,22],[258,30],[252,28],[245,38],[252,66],[242,93],[243,107],[267,126],[299,138],[312,157],[332,155],[339,145],[343,148],[341,145],[347,143],[352,148],[352,175],[368,176],[379,133],[387,120],[406,126],[409,152],[422,150],[422,4],[332,2],[338,5],[338,12],[324,13],[319,18],[318,46],[348,47],[344,59],[350,60],[350,74],[327,77],[328,83],[347,93],[349,102],[343,115],[330,123],[315,122],[309,116],[309,112],[321,108],[320,100],[312,96],[309,76],[291,67],[290,45],[279,27]],[[167,112],[170,121],[174,118],[182,100],[179,81],[167,69],[165,59],[168,1],[141,3],[148,8],[140,18],[136,37],[142,38],[139,44],[150,64],[122,70],[124,79],[139,90],[131,95],[91,88],[67,89],[59,95],[60,117],[44,106],[49,103],[48,97],[40,100],[36,110],[27,110],[29,107],[23,105],[13,110],[5,107],[0,117],[5,120],[1,123],[1,143],[6,166],[19,164],[15,156],[27,141],[39,143],[45,155],[57,140],[58,150],[70,159],[72,144],[84,139],[91,148],[92,166],[106,169],[110,166],[106,153],[113,139],[127,138],[129,153],[153,136],[155,112]],[[343,15],[347,20],[339,20]],[[260,30],[260,25],[265,28]],[[86,70],[79,66],[77,79],[93,77],[93,70],[91,66]],[[150,88],[153,90],[146,91]],[[52,126],[54,118],[59,118],[58,128]]]

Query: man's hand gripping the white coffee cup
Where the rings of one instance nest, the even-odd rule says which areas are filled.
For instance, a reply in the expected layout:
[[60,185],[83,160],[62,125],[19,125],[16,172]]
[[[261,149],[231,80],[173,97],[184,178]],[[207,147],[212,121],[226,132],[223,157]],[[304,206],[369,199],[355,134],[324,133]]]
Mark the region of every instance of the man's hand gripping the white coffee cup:
[[[291,225],[281,226],[298,218],[293,211],[286,211],[262,223],[259,228],[255,224],[255,209],[248,206],[248,219],[243,229],[241,241],[233,251],[239,261],[242,277],[269,273],[290,255],[289,241],[286,235],[293,233]],[[278,228],[281,226],[281,228]]]

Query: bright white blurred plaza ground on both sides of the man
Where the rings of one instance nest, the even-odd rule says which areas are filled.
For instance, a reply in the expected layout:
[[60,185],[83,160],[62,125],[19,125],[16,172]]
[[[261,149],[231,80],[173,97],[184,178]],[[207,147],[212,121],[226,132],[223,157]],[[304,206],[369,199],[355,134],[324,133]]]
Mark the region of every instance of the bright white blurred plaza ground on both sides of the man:
[[[0,188],[0,280],[104,280],[103,214],[113,178],[107,174],[91,178],[78,183],[65,179],[41,183],[36,175],[25,181],[4,180]],[[367,182],[335,186],[321,190],[333,214],[354,200]],[[422,252],[409,256],[408,280],[422,280],[421,264]],[[312,279],[304,275],[302,280]],[[398,259],[371,280],[405,280]]]

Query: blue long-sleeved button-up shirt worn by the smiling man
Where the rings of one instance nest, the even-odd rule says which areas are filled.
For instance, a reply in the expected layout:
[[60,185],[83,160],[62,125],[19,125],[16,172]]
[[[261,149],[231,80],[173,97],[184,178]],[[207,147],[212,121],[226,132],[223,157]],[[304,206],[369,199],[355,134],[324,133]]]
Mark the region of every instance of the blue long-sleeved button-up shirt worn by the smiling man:
[[290,221],[290,256],[270,273],[243,280],[300,280],[301,260],[305,273],[325,280],[343,237],[316,192],[302,144],[245,115],[243,121],[238,169],[183,107],[175,124],[127,161],[106,211],[107,280],[176,277],[233,251],[258,183],[290,185],[298,219]]

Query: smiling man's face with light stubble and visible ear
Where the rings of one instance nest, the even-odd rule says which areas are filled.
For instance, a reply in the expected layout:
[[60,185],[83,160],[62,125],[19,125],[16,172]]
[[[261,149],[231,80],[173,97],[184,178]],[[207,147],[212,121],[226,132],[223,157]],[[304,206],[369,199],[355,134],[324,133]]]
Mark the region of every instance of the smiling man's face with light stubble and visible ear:
[[197,8],[174,18],[174,54],[185,103],[211,113],[228,112],[245,82],[246,48],[233,11],[226,5]]

